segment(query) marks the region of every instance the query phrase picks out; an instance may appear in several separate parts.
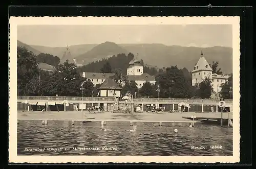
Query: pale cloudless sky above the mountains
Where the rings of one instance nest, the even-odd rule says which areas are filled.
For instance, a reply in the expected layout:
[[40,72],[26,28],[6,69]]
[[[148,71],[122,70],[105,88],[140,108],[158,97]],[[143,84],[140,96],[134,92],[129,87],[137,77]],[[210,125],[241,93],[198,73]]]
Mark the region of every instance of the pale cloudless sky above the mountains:
[[23,25],[18,26],[17,39],[49,47],[105,41],[232,47],[232,25]]

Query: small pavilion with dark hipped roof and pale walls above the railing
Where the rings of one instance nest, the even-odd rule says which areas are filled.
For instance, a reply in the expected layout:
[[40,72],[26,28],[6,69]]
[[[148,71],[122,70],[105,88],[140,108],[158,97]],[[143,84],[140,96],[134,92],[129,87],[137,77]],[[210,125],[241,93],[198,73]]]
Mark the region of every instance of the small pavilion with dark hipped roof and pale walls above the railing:
[[117,98],[121,97],[121,90],[122,88],[115,82],[112,78],[107,78],[98,88],[99,93],[98,96],[100,97],[114,97]]

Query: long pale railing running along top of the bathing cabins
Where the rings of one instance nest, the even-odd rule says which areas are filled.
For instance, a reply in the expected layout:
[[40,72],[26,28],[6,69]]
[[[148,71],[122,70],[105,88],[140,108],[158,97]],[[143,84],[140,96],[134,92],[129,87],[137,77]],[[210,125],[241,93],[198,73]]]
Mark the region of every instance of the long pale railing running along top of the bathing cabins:
[[[73,97],[73,96],[17,96],[17,100],[28,101],[88,101],[88,102],[114,102],[114,98],[102,97]],[[133,98],[134,103],[211,103],[218,104],[217,99],[163,99],[163,98]],[[232,100],[225,100],[226,104],[232,104]]]

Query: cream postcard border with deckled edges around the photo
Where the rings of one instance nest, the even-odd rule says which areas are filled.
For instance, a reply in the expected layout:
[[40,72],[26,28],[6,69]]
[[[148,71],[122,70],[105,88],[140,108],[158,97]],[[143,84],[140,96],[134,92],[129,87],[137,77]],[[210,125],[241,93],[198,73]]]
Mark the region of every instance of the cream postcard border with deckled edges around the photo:
[[[240,161],[240,17],[10,17],[9,162],[13,163],[235,163]],[[233,155],[232,156],[17,156],[18,25],[232,25]]]

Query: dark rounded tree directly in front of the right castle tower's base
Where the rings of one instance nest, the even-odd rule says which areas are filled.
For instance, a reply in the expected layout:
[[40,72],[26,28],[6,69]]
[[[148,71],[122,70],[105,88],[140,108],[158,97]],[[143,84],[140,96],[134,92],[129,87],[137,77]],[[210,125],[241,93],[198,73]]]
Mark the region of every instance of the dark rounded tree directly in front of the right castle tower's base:
[[205,78],[201,83],[198,84],[197,96],[201,99],[209,99],[213,92],[211,79]]

